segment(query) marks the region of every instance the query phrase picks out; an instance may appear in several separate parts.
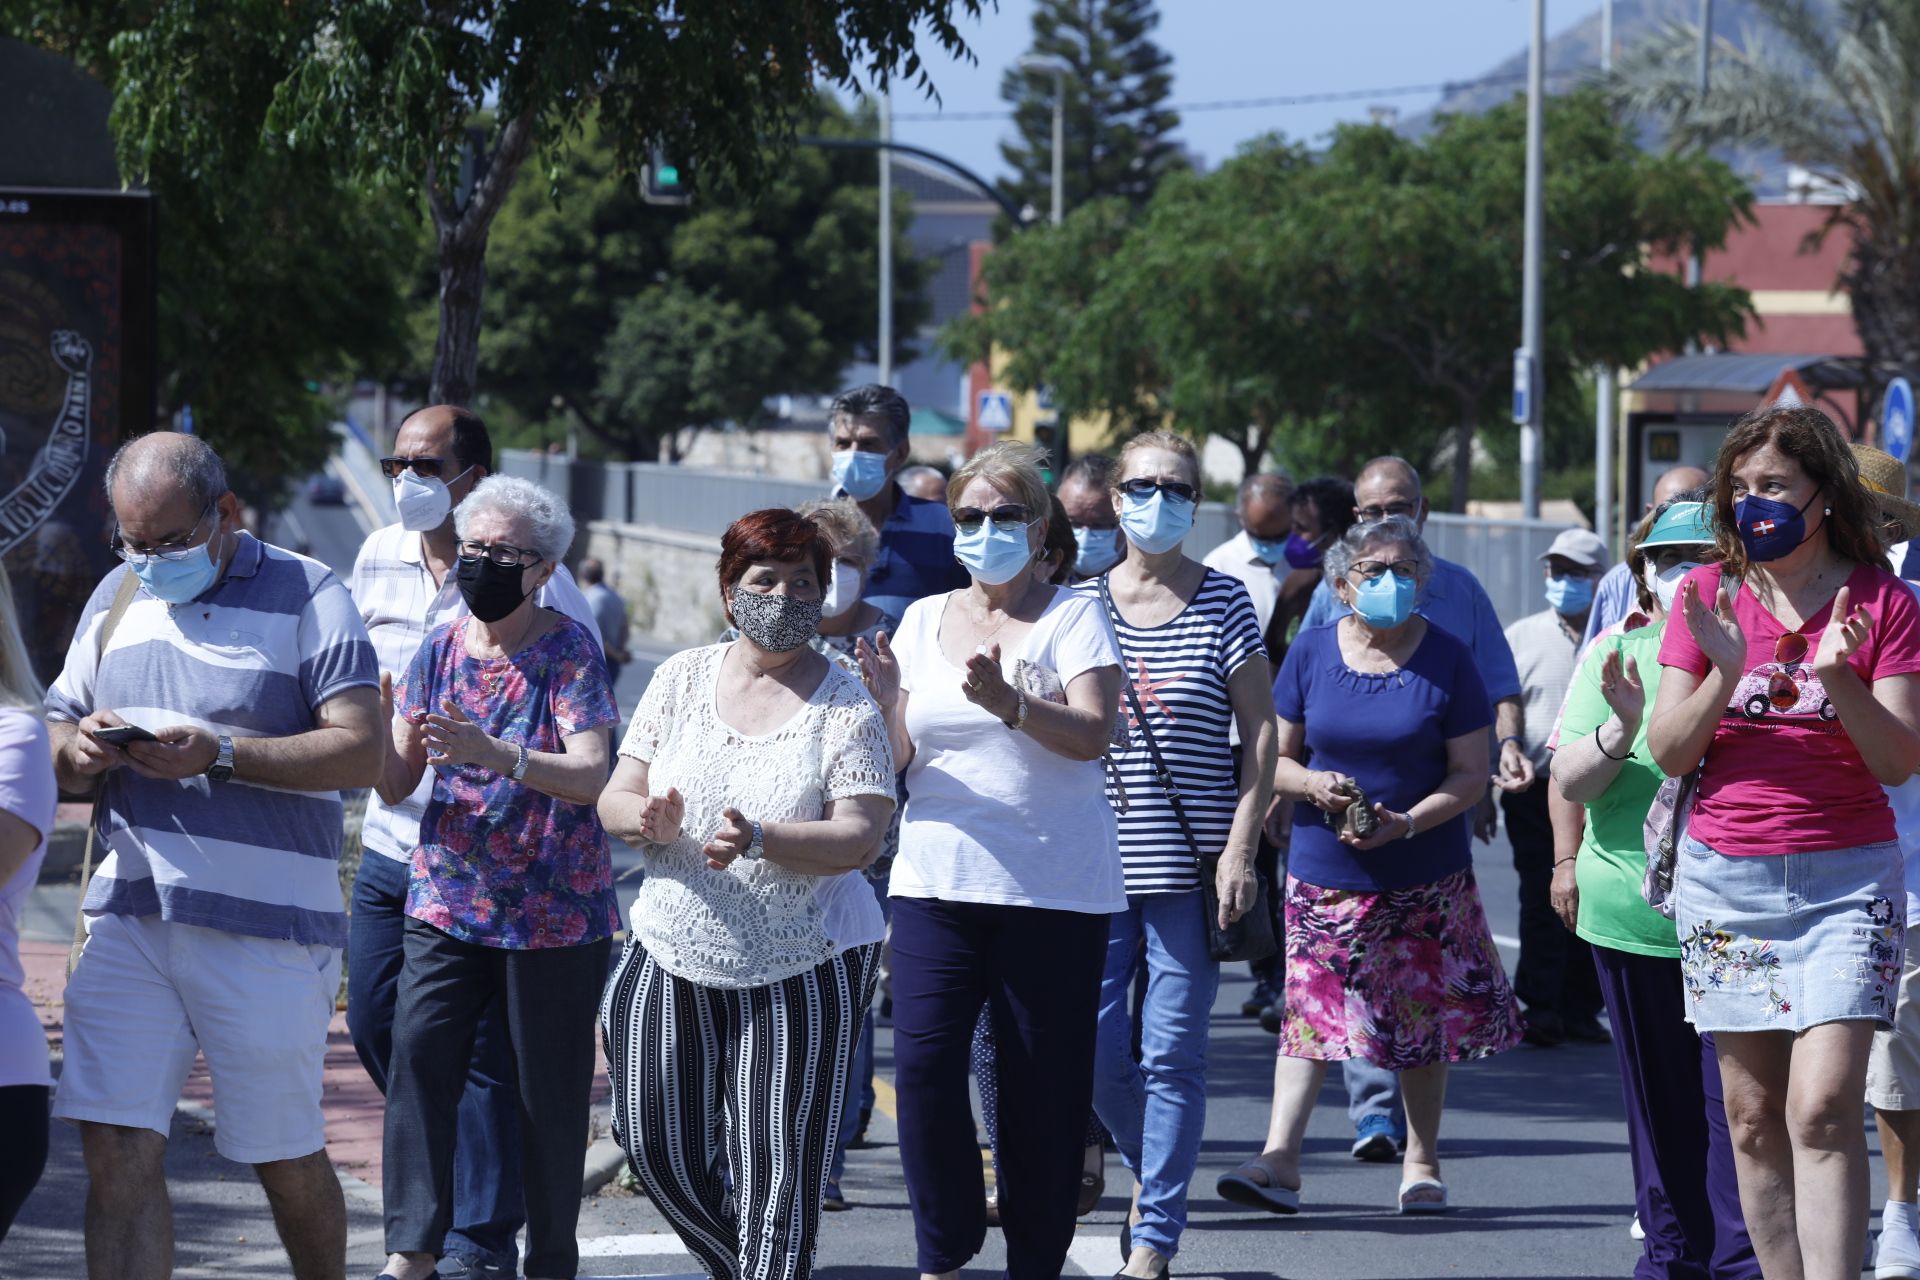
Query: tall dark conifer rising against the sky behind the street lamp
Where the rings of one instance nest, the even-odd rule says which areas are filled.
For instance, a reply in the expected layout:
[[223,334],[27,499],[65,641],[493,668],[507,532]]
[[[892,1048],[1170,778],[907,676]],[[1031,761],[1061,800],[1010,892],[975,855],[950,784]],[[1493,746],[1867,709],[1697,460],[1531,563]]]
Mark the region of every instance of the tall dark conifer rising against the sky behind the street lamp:
[[[1160,178],[1187,167],[1173,142],[1181,117],[1165,106],[1173,58],[1154,44],[1158,25],[1154,0],[1039,0],[1033,10],[1029,54],[1068,67],[1068,209],[1102,196],[1140,209]],[[1014,171],[1000,192],[1044,217],[1052,203],[1054,73],[1014,65],[1000,81],[1000,98],[1014,104],[1020,130],[1020,142],[1000,144]]]

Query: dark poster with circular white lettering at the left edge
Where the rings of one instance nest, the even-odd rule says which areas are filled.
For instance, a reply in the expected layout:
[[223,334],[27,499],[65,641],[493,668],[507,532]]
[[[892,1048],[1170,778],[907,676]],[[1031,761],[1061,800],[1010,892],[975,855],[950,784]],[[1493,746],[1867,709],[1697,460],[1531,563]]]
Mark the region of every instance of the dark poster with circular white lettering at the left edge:
[[108,457],[152,424],[152,200],[0,186],[0,564],[40,679],[111,566]]

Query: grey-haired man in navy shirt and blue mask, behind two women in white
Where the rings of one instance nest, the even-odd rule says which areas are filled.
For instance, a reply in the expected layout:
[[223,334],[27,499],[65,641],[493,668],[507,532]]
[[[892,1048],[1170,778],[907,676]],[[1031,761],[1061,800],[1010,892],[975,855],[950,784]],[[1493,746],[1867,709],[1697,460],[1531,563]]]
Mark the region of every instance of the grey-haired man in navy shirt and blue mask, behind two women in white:
[[908,457],[912,409],[891,386],[856,386],[833,397],[833,495],[851,497],[879,530],[879,553],[860,599],[899,618],[925,595],[962,591],[972,580],[954,560],[954,522],[947,503],[899,486]]

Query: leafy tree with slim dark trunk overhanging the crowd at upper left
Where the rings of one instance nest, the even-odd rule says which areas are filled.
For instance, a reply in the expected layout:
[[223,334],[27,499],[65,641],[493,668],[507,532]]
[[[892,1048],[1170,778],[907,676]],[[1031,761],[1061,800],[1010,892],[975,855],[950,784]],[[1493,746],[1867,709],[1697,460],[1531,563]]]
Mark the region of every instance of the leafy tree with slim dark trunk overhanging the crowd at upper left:
[[[480,355],[493,219],[534,154],[549,178],[593,119],[614,167],[664,144],[749,188],[783,163],[822,86],[900,77],[931,90],[924,38],[966,52],[954,15],[981,0],[152,0],[115,40],[115,121],[134,173],[192,155],[219,173],[259,146],[323,155],[342,173],[424,194],[440,274],[428,395],[468,403]],[[209,29],[284,31],[263,111],[230,81],[252,73]]]

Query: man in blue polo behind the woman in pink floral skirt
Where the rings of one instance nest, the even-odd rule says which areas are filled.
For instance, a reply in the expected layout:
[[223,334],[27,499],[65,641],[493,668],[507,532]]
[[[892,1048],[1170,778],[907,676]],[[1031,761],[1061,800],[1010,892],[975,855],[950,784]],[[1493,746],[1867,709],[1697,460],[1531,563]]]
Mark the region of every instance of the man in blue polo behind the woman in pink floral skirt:
[[[1421,491],[1421,474],[1405,459],[1379,457],[1359,468],[1354,480],[1354,516],[1384,520],[1407,516],[1421,532],[1427,530],[1430,507]],[[1323,578],[1313,587],[1313,599],[1300,620],[1300,629],[1336,622],[1348,608],[1340,604]],[[1534,764],[1521,750],[1526,716],[1521,704],[1521,674],[1513,664],[1513,649],[1500,629],[1500,614],[1486,587],[1461,564],[1434,557],[1432,578],[1421,587],[1413,612],[1442,631],[1453,633],[1473,652],[1473,664],[1486,683],[1494,702],[1494,735],[1500,739],[1500,768],[1494,783],[1500,791],[1524,791],[1534,781]],[[1482,841],[1492,841],[1500,810],[1488,793],[1475,810],[1473,829]],[[1354,1121],[1354,1159],[1392,1161],[1400,1157],[1405,1121],[1400,1117],[1400,1080],[1392,1071],[1365,1059],[1344,1063],[1348,1119]]]

